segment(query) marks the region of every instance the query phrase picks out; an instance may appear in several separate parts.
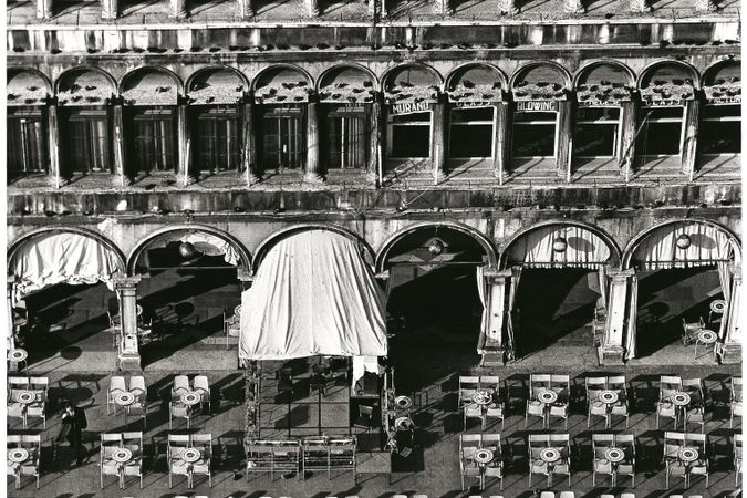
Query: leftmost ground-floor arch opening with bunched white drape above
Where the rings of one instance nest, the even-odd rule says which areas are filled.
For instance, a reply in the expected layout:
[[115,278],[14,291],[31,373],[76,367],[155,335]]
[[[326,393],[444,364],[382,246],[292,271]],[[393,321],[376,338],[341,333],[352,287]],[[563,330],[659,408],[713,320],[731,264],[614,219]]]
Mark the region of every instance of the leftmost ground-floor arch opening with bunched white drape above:
[[10,246],[8,262],[13,342],[28,351],[29,366],[58,354],[115,363],[107,313],[118,310],[113,278],[125,260],[113,242],[82,228],[40,229]]

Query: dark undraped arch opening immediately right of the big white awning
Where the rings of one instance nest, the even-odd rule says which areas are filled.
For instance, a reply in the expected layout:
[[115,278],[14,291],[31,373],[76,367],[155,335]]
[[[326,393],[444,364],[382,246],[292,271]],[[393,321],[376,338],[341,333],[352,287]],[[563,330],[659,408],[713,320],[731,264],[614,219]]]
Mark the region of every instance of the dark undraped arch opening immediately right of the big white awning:
[[[455,364],[478,363],[484,299],[478,274],[495,262],[486,245],[468,229],[428,224],[403,230],[380,251],[377,268],[388,271],[390,360],[404,392],[423,388]],[[418,365],[413,351],[419,352]]]

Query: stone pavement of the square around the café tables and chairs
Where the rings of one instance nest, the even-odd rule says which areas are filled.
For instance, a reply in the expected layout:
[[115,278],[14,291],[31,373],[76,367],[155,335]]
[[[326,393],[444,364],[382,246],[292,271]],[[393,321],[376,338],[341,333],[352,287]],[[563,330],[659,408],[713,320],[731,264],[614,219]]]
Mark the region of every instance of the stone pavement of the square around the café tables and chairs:
[[[692,350],[688,350],[692,351]],[[231,351],[226,354],[235,354]],[[458,351],[454,353],[457,354]],[[474,354],[474,353],[473,353]],[[691,353],[692,354],[692,353]],[[688,354],[689,357],[689,354]],[[563,359],[567,360],[567,359]],[[674,359],[676,360],[676,357]],[[679,357],[682,363],[687,363],[685,357]],[[434,360],[436,361],[436,360]],[[592,488],[591,484],[591,461],[590,461],[590,439],[592,432],[604,429],[603,423],[598,422],[587,428],[585,404],[582,397],[583,376],[590,372],[602,371],[600,367],[592,367],[582,364],[577,357],[578,363],[556,362],[550,365],[549,356],[542,365],[541,372],[547,373],[570,373],[573,378],[572,386],[572,415],[568,422],[568,432],[573,442],[572,448],[572,479],[571,489],[577,496],[596,497],[601,492],[615,492],[622,490],[632,490],[639,497],[660,497],[668,496],[664,485],[664,471],[661,465],[663,430],[671,429],[672,423],[665,422],[660,430],[655,427],[654,402],[657,394],[657,380],[660,374],[671,373],[679,374],[684,377],[703,377],[708,391],[708,422],[705,426],[705,433],[709,439],[709,453],[712,455],[710,485],[706,489],[703,479],[694,479],[688,490],[682,489],[682,481],[674,479],[672,492],[719,496],[725,491],[733,490],[735,487],[735,474],[732,464],[732,437],[740,430],[741,425],[735,425],[729,428],[728,409],[725,408],[725,402],[728,400],[727,380],[730,375],[739,372],[738,365],[639,365],[629,367],[608,367],[604,371],[625,372],[629,380],[629,390],[634,401],[632,406],[633,414],[630,418],[627,432],[632,432],[637,437],[637,475],[636,486],[633,488],[627,478],[620,478],[619,487],[610,488],[609,479],[602,477],[598,481],[598,487]],[[110,371],[91,369],[87,371],[69,372],[54,370],[46,372],[39,370],[33,373],[44,374],[50,377],[50,398],[49,419],[46,430],[41,430],[40,421],[30,423],[29,433],[41,433],[43,440],[42,449],[42,477],[41,487],[34,489],[31,478],[23,480],[22,488],[17,490],[13,487],[12,479],[8,478],[8,496],[10,497],[174,497],[183,496],[209,496],[209,497],[241,497],[259,498],[261,496],[290,496],[290,497],[313,497],[322,498],[326,496],[349,496],[357,495],[361,497],[387,497],[394,492],[414,494],[424,492],[429,497],[453,498],[469,495],[492,496],[502,495],[505,497],[529,497],[532,496],[532,489],[543,486],[541,476],[535,476],[532,489],[527,485],[527,461],[526,461],[526,438],[528,434],[541,433],[541,423],[530,421],[528,429],[525,429],[523,411],[526,400],[526,384],[530,372],[538,373],[538,365],[527,362],[517,363],[509,367],[494,369],[465,369],[459,365],[469,362],[460,362],[458,359],[454,363],[447,362],[442,370],[430,369],[429,362],[418,362],[418,367],[413,367],[412,372],[402,369],[398,374],[398,392],[414,394],[418,400],[418,409],[414,419],[418,425],[417,444],[418,448],[406,460],[395,460],[395,471],[391,478],[387,475],[360,475],[357,483],[353,476],[347,474],[333,475],[331,479],[326,475],[309,476],[305,480],[300,480],[298,476],[290,476],[287,479],[278,478],[271,480],[269,476],[258,476],[249,483],[242,478],[243,452],[241,438],[243,436],[243,380],[239,371],[219,370],[201,371],[190,370],[189,364],[184,364],[178,373],[206,373],[212,386],[212,409],[209,415],[198,415],[193,423],[191,432],[207,432],[214,438],[214,486],[210,489],[206,479],[196,478],[195,489],[188,490],[186,480],[175,477],[174,488],[168,487],[167,467],[165,464],[165,440],[168,433],[168,393],[176,371],[146,369],[145,377],[148,385],[149,414],[147,416],[147,428],[145,430],[145,461],[143,489],[137,485],[137,478],[127,479],[124,490],[117,489],[116,479],[107,476],[104,479],[104,489],[100,489],[98,484],[98,434],[103,432],[122,432],[124,429],[139,430],[142,428],[141,419],[125,421],[120,412],[118,415],[106,414],[105,391],[108,385]],[[271,375],[271,365],[266,365],[263,370],[263,390],[272,393],[273,377]],[[432,372],[422,375],[422,382],[417,376],[417,371]],[[461,491],[459,485],[458,470],[458,435],[464,433],[461,416],[455,411],[457,377],[453,372],[475,372],[480,374],[497,374],[506,381],[506,395],[509,401],[508,417],[502,429],[502,444],[506,453],[506,479],[502,492],[499,490],[498,483],[487,483],[487,489],[479,492]],[[442,375],[442,373],[444,373]],[[330,394],[330,400],[324,400],[326,404],[340,402],[342,392],[346,392],[344,380],[340,378],[338,384],[338,394]],[[271,396],[270,396],[271,397]],[[85,433],[86,448],[89,457],[82,467],[72,468],[72,454],[66,444],[54,445],[52,439],[60,428],[59,422],[59,400],[71,398],[86,407],[89,417],[89,428]],[[314,434],[317,430],[317,419],[313,416],[317,408],[318,398],[315,395],[308,396],[301,394],[294,401],[294,408],[305,407],[303,411],[308,416],[300,421],[293,421],[294,435]],[[272,428],[282,427],[286,412],[281,409],[281,403],[277,403],[274,414],[264,416],[267,422],[262,423],[270,427],[263,429],[264,434],[270,434]],[[331,406],[331,405],[330,405]],[[322,416],[324,430],[328,434],[339,434],[341,424],[344,425],[345,416],[340,414],[340,404],[328,412],[332,415]],[[342,406],[345,406],[342,403]],[[263,408],[264,409],[264,408]],[[341,421],[343,421],[341,423]],[[20,421],[11,418],[9,421],[10,433],[23,433],[20,429]],[[332,428],[335,426],[336,428]],[[692,426],[694,428],[694,426]],[[175,430],[184,430],[184,422],[175,422]],[[553,422],[550,430],[552,433],[562,433],[562,422]],[[282,430],[280,430],[282,432]],[[479,424],[470,423],[468,433],[479,433]],[[500,432],[499,425],[489,426],[486,432]],[[624,421],[616,421],[612,432],[625,432]],[[361,440],[366,439],[365,436]],[[364,460],[365,454],[360,459]],[[474,481],[471,481],[474,483]],[[556,478],[553,489],[569,489],[562,478]]]

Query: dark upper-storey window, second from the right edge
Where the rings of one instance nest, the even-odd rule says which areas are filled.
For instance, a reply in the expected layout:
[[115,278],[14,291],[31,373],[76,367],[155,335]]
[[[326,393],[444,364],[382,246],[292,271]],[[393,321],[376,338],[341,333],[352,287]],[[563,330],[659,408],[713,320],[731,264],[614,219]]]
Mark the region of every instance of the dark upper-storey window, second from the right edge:
[[636,153],[641,156],[676,156],[682,144],[683,107],[641,110]]

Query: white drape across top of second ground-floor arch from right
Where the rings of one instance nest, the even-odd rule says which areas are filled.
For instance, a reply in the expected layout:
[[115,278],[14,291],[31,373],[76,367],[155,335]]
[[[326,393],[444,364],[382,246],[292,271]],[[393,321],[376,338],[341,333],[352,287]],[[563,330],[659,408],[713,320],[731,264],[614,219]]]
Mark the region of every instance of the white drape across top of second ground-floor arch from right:
[[[559,237],[567,242],[566,250],[561,252],[552,249],[552,242]],[[583,227],[553,225],[519,237],[511,243],[508,258],[512,264],[535,268],[598,268],[610,259],[610,248]]]

